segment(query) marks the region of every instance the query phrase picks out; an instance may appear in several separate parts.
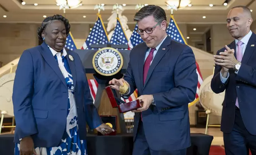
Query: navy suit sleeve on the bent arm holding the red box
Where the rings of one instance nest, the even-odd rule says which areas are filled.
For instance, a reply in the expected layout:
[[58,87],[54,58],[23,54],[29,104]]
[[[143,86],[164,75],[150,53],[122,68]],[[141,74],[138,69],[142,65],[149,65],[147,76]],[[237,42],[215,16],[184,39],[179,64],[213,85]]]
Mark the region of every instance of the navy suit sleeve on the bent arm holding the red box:
[[198,75],[196,59],[190,47],[186,47],[178,57],[174,70],[174,82],[173,89],[153,94],[155,105],[159,111],[188,104],[196,98]]

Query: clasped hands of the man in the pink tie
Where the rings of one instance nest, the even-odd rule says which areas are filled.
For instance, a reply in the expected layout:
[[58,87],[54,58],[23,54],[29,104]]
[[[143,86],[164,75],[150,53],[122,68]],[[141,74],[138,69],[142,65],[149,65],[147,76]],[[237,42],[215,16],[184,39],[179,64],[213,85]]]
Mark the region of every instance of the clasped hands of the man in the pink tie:
[[225,51],[220,52],[219,55],[214,55],[215,64],[222,66],[222,69],[225,72],[228,72],[230,68],[234,68],[235,64],[237,64],[237,59],[235,58],[235,50],[230,49],[227,45],[225,45]]

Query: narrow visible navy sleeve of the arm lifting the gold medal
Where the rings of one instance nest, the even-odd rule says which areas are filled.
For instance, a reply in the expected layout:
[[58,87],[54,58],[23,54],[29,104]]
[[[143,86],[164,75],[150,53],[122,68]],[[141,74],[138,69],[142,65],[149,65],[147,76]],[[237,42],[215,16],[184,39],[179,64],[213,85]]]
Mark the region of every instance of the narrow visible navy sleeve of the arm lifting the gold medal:
[[127,81],[130,85],[130,92],[127,95],[122,96],[125,99],[129,98],[129,96],[132,95],[132,93],[134,93],[135,89],[137,89],[135,81],[134,81],[133,71],[132,71],[132,62],[134,59],[133,55],[134,55],[134,50],[132,50],[130,53],[130,61],[129,61],[128,67],[126,69],[126,73],[124,74],[124,80]]

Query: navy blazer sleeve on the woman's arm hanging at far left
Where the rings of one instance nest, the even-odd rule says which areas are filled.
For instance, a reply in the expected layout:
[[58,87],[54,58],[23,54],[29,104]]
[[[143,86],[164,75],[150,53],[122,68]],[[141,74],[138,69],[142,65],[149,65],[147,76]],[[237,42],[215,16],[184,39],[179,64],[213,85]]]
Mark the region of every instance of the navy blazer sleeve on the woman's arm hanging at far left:
[[22,53],[14,79],[12,101],[16,121],[16,134],[19,139],[38,132],[32,107],[34,93],[34,65],[31,53]]

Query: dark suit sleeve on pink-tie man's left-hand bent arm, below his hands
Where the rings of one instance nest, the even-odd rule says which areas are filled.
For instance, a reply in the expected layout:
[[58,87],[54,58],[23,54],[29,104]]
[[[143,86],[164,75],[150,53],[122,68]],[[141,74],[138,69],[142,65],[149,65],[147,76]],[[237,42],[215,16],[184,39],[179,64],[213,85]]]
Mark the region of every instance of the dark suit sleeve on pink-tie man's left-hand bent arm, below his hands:
[[[219,55],[219,53],[220,51],[217,51],[217,55]],[[213,78],[211,79],[211,90],[216,94],[222,93],[226,89],[226,85],[221,82],[221,68],[221,66],[215,65]],[[229,80],[229,78],[227,80]],[[227,82],[228,81],[225,83]]]

